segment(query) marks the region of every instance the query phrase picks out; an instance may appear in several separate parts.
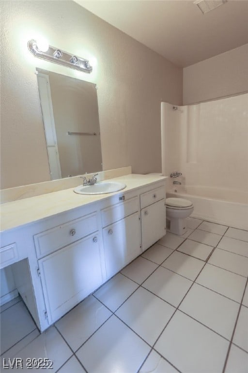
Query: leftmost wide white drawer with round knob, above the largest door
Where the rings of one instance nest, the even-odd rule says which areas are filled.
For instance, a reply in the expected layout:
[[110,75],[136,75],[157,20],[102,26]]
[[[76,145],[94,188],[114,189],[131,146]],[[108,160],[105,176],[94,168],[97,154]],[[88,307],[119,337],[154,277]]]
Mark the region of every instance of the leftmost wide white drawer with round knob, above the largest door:
[[68,223],[41,232],[34,236],[37,257],[50,254],[97,230],[97,216],[96,212],[93,212],[82,218],[71,220]]

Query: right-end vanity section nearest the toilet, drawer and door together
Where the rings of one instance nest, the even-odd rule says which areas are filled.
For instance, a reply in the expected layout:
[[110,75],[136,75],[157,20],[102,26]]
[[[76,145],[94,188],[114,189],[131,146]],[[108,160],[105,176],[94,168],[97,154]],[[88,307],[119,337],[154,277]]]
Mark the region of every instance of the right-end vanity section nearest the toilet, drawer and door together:
[[165,187],[140,194],[142,251],[166,234]]

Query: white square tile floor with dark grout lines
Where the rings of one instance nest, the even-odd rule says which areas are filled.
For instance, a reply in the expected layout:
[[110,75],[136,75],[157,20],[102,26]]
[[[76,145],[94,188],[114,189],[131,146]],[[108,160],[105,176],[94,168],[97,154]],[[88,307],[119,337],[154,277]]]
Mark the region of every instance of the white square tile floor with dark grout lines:
[[186,234],[168,232],[42,334],[20,298],[2,306],[1,365],[48,357],[58,373],[247,373],[248,231],[187,221]]

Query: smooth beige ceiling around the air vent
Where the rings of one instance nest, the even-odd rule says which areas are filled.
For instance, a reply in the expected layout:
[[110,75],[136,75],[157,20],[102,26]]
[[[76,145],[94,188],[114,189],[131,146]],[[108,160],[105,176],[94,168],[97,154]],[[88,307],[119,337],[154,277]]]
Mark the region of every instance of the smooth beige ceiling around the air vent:
[[248,0],[204,15],[191,0],[76,2],[181,67],[248,43]]

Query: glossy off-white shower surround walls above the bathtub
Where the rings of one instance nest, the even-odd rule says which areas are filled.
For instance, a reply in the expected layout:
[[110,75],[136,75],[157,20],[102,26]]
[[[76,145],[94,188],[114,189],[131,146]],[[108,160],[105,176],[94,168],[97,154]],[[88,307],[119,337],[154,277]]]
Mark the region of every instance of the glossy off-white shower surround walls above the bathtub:
[[181,171],[182,185],[248,192],[248,93],[161,108],[164,175]]

